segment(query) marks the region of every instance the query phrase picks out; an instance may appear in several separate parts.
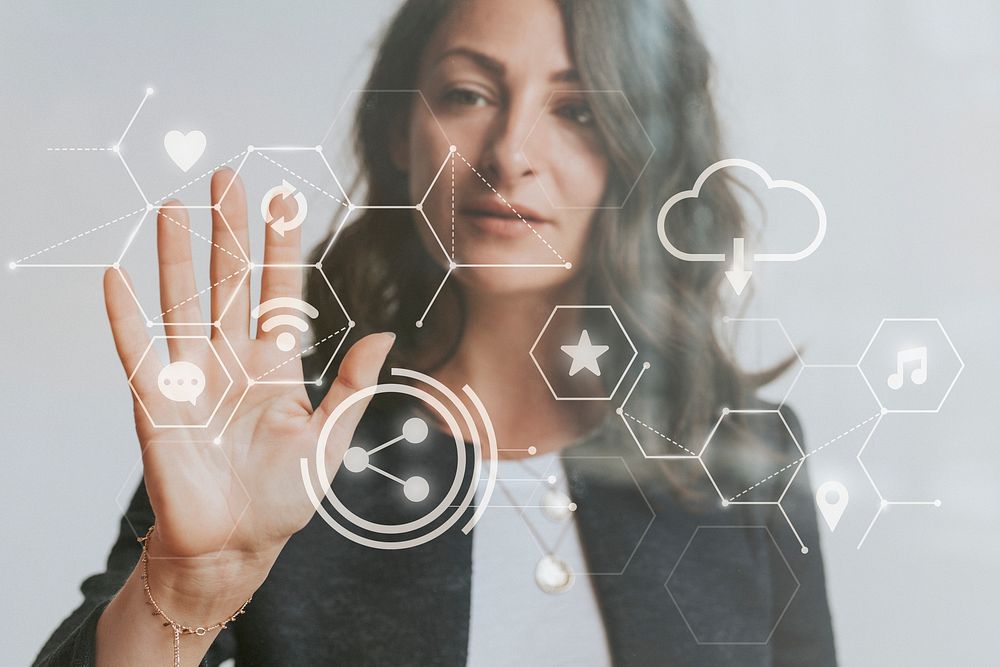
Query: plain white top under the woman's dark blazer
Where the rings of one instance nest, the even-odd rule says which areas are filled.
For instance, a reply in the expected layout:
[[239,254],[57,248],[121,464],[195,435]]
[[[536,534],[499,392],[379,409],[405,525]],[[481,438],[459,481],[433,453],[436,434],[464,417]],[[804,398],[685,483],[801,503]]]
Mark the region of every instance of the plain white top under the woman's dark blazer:
[[[558,508],[541,507],[562,503],[569,491],[558,452],[499,462],[490,507],[472,531],[469,665],[611,664],[572,512],[559,517]],[[535,567],[550,551],[575,575],[562,593],[535,583]]]

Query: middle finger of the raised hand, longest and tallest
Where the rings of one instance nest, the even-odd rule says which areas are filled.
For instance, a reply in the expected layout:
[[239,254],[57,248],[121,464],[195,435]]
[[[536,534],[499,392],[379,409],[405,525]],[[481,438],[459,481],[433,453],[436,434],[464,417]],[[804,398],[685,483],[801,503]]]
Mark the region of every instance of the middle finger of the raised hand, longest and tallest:
[[250,233],[243,181],[232,169],[212,175],[212,321],[227,335],[250,336]]

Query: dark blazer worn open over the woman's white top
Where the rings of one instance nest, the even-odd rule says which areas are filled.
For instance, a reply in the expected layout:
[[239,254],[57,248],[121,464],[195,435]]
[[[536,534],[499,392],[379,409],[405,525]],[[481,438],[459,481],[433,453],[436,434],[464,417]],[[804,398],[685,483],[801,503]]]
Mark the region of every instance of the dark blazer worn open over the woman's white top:
[[[398,421],[370,409],[356,440],[377,444],[394,429],[398,434]],[[771,436],[776,446],[790,446],[787,433]],[[380,460],[389,469],[427,464],[426,451],[390,447],[383,453],[391,456]],[[705,510],[679,501],[659,464],[642,457],[617,418],[562,458],[580,508],[584,555],[592,572],[603,573],[593,575],[593,583],[615,664],[836,664],[804,470],[784,507],[811,547],[808,555],[776,508],[722,509],[716,499]],[[432,488],[435,480],[450,482],[450,474],[453,463],[434,466]],[[343,474],[334,487],[360,514],[399,519],[402,503],[376,489],[380,479]],[[707,481],[702,490],[714,494]],[[93,664],[97,618],[134,567],[135,534],[152,519],[140,485],[108,569],[83,583],[83,604],[52,635],[36,665]],[[420,547],[383,551],[359,546],[314,517],[203,664],[235,657],[237,665],[464,665],[472,539],[458,529],[462,523]],[[531,656],[521,660],[533,664]]]

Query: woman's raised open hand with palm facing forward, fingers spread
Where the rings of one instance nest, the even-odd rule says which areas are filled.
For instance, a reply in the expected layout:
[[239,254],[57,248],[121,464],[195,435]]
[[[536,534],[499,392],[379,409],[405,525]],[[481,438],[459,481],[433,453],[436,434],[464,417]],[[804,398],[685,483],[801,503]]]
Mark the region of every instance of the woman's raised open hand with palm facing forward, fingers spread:
[[[237,242],[249,247],[246,202],[238,180],[225,198],[221,197],[232,178],[231,172],[219,172],[212,179],[212,201],[219,202],[225,215],[225,220],[214,216],[213,284],[241,270],[238,254],[225,252],[227,242],[231,247]],[[157,386],[162,383],[159,373],[163,366],[155,360],[139,363],[149,337],[128,287],[116,272],[109,271],[105,278],[115,343],[132,386],[142,398],[144,409],[136,404],[136,427],[159,546],[166,552],[163,555],[170,556],[209,556],[220,549],[266,551],[280,546],[315,511],[303,487],[299,459],[315,454],[316,437],[330,410],[353,388],[374,382],[390,339],[372,336],[355,345],[327,397],[313,413],[301,384],[302,365],[294,351],[298,345],[291,352],[282,352],[271,333],[258,331],[256,338],[249,335],[248,280],[223,280],[211,291],[216,325],[210,332],[192,331],[195,327],[184,325],[183,332],[175,334],[171,325],[201,317],[198,299],[190,298],[197,292],[190,238],[183,227],[172,224],[179,215],[178,209],[170,209],[169,216],[161,212],[157,228],[167,345],[171,363],[189,362],[203,371],[206,397],[222,397],[214,417],[210,413],[217,399],[192,405],[171,399],[162,384]],[[164,222],[171,218],[171,222]],[[232,234],[226,230],[227,222]],[[272,266],[299,264],[299,254],[297,233],[268,234],[262,302],[299,296],[301,270]],[[234,384],[225,391],[230,378]],[[288,384],[258,381],[265,378]],[[351,411],[345,421],[348,428],[341,429],[338,441],[331,443],[326,461],[331,476],[362,410],[363,405],[358,405]],[[150,414],[158,417],[160,424],[196,424],[211,417],[211,429],[223,435],[213,441],[206,437],[206,429],[157,427]]]

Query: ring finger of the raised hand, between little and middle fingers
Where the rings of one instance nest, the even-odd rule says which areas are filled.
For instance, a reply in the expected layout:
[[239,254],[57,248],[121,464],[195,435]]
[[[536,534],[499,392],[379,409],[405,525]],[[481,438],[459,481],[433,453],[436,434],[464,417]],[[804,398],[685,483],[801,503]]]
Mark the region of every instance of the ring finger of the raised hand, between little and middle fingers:
[[[160,265],[160,306],[164,324],[192,324],[203,321],[201,300],[194,279],[191,260],[191,223],[187,211],[177,208],[177,200],[164,203],[156,219],[156,252]],[[167,331],[171,336],[194,336],[199,327],[178,327]],[[167,338],[170,356],[181,359],[188,341]],[[188,345],[190,347],[190,345]]]

